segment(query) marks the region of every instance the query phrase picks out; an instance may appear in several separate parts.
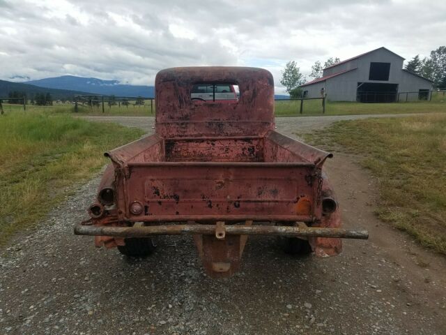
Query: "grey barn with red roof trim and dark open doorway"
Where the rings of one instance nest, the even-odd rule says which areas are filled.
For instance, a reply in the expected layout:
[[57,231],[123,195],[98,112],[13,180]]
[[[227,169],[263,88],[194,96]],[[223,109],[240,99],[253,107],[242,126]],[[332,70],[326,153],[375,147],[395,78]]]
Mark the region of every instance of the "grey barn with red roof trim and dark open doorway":
[[[390,103],[429,99],[433,82],[403,69],[403,57],[379,47],[323,69],[323,76],[302,84],[305,98]],[[406,92],[412,92],[406,94]]]

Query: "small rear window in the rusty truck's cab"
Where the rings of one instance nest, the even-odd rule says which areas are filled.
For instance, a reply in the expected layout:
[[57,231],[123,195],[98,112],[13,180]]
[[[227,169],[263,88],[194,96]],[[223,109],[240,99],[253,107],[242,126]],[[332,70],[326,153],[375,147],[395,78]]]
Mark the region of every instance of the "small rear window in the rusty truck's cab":
[[192,85],[190,98],[201,103],[236,103],[240,96],[238,84],[233,83],[199,83]]

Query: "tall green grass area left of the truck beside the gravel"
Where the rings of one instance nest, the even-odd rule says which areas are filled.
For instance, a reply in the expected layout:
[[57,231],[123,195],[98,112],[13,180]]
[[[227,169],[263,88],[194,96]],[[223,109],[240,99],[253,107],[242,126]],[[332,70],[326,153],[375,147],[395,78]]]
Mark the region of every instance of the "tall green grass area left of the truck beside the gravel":
[[70,186],[98,172],[107,162],[104,151],[142,131],[68,114],[17,110],[0,116],[0,134],[1,245],[44,218]]

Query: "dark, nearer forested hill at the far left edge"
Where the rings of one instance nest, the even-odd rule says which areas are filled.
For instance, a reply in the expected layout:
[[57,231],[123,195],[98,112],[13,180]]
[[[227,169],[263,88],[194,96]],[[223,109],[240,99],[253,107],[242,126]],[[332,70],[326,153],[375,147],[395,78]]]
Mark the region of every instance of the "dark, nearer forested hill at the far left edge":
[[8,98],[9,92],[19,91],[24,92],[27,98],[32,98],[36,94],[51,94],[54,100],[72,100],[75,94],[86,94],[84,91],[72,91],[67,89],[49,89],[37,87],[31,84],[24,84],[22,82],[8,82],[0,80],[0,98]]

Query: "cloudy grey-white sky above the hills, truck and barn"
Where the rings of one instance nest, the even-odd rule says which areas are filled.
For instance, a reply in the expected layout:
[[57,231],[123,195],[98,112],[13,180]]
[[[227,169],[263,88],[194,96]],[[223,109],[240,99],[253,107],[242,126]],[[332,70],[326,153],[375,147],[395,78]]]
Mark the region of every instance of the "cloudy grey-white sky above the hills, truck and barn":
[[290,60],[308,77],[328,57],[384,46],[411,59],[446,44],[444,0],[0,0],[0,18],[0,79],[13,81],[153,85],[162,68],[256,66],[283,94]]

